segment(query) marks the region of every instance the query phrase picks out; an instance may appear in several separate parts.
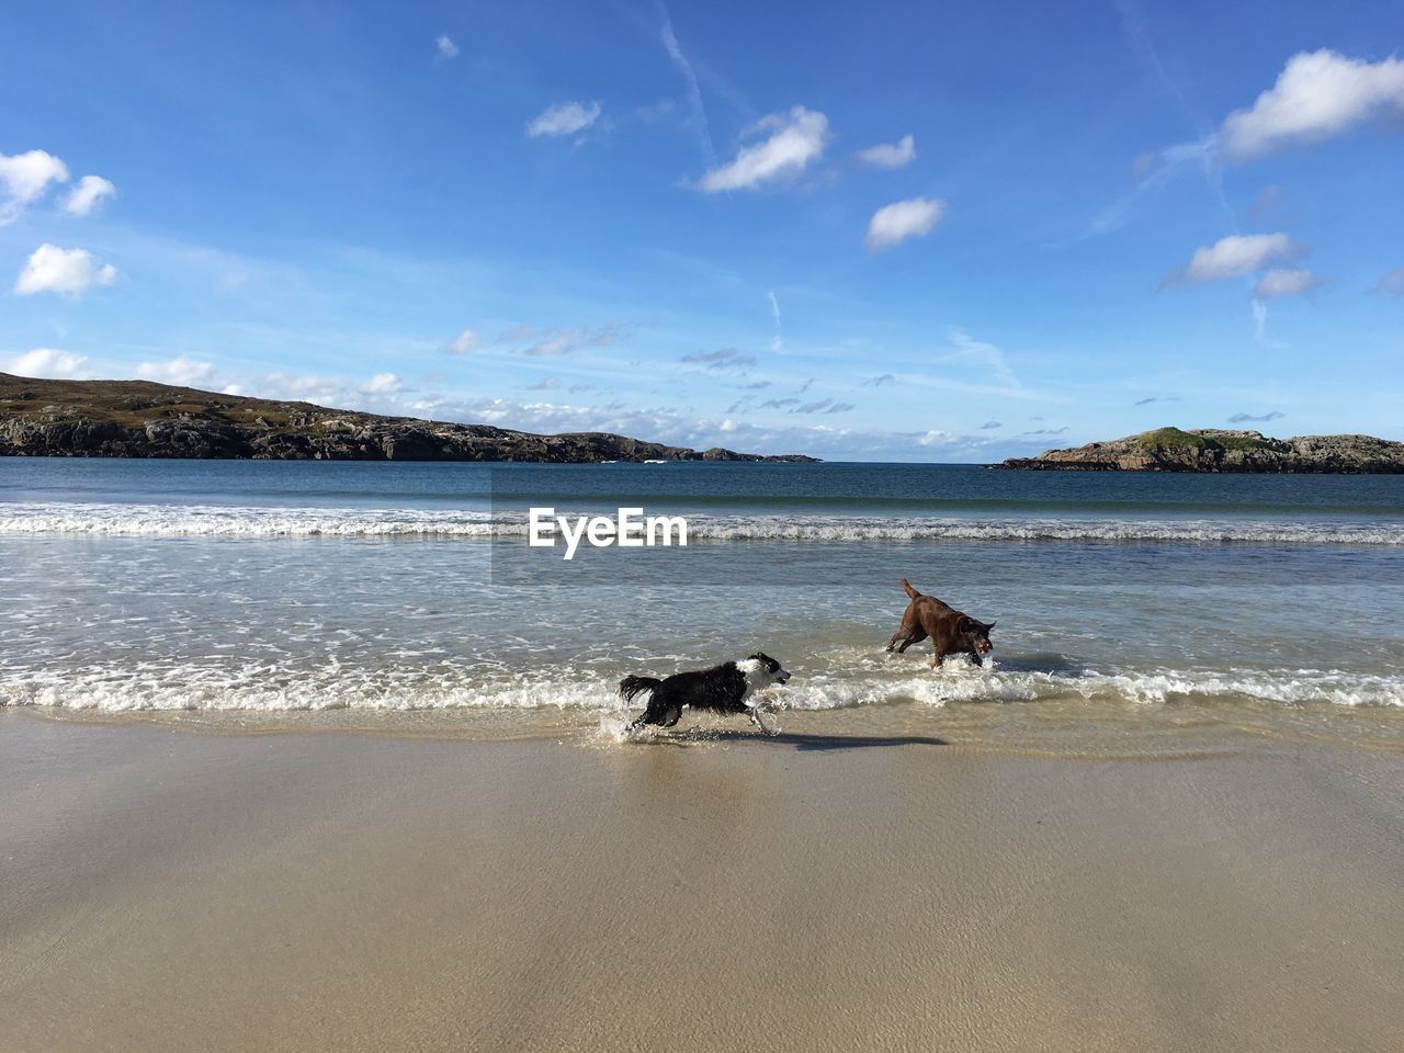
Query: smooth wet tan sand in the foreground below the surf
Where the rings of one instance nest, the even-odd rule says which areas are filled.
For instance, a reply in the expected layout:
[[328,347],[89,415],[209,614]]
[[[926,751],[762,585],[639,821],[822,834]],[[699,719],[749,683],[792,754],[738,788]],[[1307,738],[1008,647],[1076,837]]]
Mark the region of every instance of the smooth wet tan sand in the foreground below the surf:
[[0,1050],[1390,1050],[1404,762],[0,710]]

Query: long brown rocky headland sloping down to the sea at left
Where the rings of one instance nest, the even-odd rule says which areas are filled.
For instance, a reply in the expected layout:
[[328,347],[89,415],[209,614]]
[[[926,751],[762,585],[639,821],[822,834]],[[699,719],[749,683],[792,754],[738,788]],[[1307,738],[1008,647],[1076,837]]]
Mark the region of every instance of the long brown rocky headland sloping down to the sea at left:
[[609,432],[534,435],[489,424],[329,410],[149,380],[0,373],[0,456],[253,461],[792,461],[696,451]]

